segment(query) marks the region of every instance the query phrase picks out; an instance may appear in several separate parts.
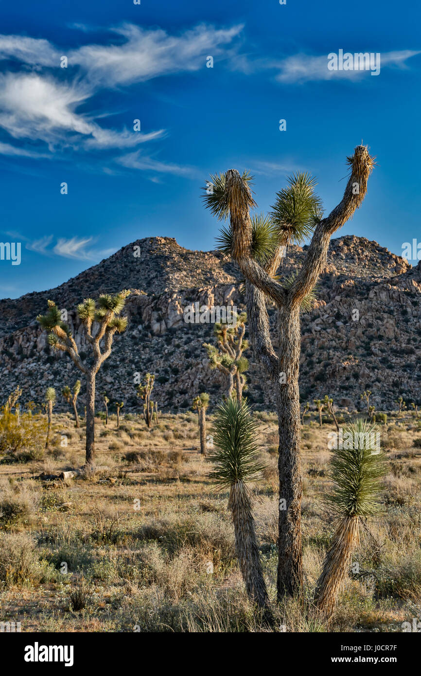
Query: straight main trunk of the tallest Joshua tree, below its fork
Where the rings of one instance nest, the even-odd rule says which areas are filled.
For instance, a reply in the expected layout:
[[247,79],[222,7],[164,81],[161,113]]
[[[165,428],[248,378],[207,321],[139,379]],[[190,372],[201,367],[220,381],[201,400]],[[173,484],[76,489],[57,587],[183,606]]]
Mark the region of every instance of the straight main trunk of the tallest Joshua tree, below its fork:
[[[279,537],[278,598],[294,594],[303,582],[301,559],[301,493],[299,355],[301,335],[299,308],[279,312],[278,425],[279,425]],[[285,374],[284,377],[282,374]],[[282,384],[282,381],[284,383]]]

